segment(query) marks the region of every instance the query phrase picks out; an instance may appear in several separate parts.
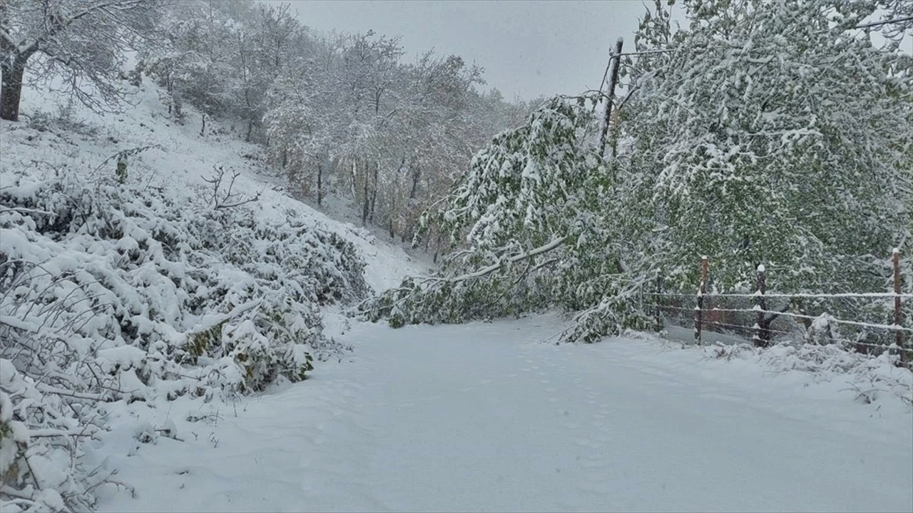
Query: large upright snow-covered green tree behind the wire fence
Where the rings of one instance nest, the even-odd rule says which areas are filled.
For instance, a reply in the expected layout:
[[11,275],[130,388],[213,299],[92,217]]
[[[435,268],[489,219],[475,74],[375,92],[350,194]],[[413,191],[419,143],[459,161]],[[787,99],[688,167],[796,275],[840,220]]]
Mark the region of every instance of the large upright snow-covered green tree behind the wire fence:
[[668,245],[649,265],[708,255],[722,288],[766,263],[775,287],[872,289],[871,255],[909,232],[910,58],[848,34],[869,14],[855,3],[687,6],[626,120],[619,198]]

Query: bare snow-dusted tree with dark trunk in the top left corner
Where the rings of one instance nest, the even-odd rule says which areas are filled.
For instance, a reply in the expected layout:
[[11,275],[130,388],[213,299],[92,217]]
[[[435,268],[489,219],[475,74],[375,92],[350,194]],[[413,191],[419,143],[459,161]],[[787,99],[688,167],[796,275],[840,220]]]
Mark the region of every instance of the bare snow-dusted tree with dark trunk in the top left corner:
[[59,75],[90,108],[116,106],[124,52],[145,38],[155,10],[153,0],[0,0],[0,119],[18,120],[26,66],[37,78]]

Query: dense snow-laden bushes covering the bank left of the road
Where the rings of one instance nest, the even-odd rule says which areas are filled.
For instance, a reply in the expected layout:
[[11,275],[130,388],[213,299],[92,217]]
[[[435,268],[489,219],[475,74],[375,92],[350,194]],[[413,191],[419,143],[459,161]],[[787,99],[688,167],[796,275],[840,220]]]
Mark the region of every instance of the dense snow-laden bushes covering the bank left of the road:
[[4,508],[90,507],[107,476],[81,467],[79,442],[105,403],[305,379],[335,347],[320,306],[367,290],[351,243],[294,211],[214,210],[113,176],[0,182]]

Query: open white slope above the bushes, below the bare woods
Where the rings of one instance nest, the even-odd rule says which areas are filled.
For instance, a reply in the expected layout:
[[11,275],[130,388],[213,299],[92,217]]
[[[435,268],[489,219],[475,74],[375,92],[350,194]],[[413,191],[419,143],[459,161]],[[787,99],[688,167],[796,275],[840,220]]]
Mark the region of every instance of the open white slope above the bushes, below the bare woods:
[[[0,166],[22,163],[26,166],[54,168],[66,173],[89,175],[114,173],[115,162],[97,169],[116,152],[158,145],[132,157],[129,162],[130,180],[166,188],[198,189],[201,194],[211,188],[204,182],[214,173],[215,165],[233,169],[241,176],[236,191],[247,196],[261,193],[257,203],[263,216],[283,218],[286,208],[295,208],[310,218],[314,226],[336,232],[357,246],[368,263],[365,278],[375,290],[399,284],[407,274],[425,274],[428,264],[421,257],[407,255],[402,246],[389,244],[361,226],[336,221],[286,194],[282,180],[263,162],[256,144],[239,139],[230,123],[206,121],[205,136],[201,136],[202,118],[186,108],[184,125],[173,122],[167,108],[158,98],[158,88],[145,79],[134,101],[136,106],[123,114],[93,114],[79,105],[72,105],[72,120],[85,124],[88,130],[74,133],[65,130],[40,132],[16,130],[15,124],[0,122]],[[23,94],[23,121],[38,112],[56,114],[60,106],[68,105],[54,95],[26,88]],[[19,125],[27,124],[20,122]],[[79,124],[79,123],[73,123]]]

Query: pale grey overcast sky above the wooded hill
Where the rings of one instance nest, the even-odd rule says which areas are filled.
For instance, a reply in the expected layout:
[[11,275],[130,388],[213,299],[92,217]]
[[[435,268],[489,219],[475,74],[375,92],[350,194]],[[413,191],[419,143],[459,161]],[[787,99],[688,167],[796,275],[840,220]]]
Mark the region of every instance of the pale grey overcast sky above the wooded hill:
[[[275,2],[279,3],[279,2]],[[649,2],[652,5],[652,2]],[[320,31],[401,36],[405,59],[434,48],[485,68],[485,89],[533,99],[596,89],[618,37],[634,45],[641,0],[291,2]]]

